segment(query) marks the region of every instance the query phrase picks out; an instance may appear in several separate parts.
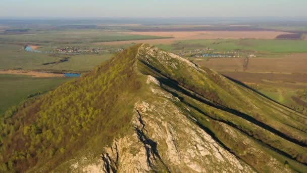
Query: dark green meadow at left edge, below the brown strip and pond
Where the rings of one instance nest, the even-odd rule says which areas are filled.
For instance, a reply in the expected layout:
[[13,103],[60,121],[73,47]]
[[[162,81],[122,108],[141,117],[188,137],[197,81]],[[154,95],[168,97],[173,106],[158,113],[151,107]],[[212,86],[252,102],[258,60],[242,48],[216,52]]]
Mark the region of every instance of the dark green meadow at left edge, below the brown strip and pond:
[[0,114],[13,105],[18,105],[30,94],[55,88],[67,77],[38,78],[26,75],[0,74]]

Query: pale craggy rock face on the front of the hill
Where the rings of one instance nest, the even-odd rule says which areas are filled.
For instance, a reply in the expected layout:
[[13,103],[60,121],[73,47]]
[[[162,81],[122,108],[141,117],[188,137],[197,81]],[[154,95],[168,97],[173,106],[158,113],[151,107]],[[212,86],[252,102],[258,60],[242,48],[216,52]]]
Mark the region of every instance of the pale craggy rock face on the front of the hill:
[[105,148],[100,172],[253,172],[179,110],[178,98],[159,89],[154,77],[148,80],[155,101],[135,103],[134,133]]

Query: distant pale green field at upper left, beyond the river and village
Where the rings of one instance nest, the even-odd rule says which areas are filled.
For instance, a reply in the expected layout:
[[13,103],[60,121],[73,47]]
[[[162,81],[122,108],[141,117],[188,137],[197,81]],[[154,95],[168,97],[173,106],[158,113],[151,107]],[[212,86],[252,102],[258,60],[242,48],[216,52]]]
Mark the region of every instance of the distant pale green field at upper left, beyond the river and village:
[[36,44],[83,44],[91,42],[170,38],[151,35],[133,35],[105,29],[30,30],[26,34],[1,34],[0,41]]

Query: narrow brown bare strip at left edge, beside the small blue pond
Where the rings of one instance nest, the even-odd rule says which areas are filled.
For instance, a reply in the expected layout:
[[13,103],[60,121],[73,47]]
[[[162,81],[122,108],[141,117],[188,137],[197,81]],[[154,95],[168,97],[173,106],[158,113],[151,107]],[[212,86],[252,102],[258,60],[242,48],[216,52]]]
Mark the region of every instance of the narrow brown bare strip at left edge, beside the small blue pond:
[[0,74],[20,74],[30,75],[32,77],[64,77],[64,74],[60,73],[48,73],[29,70],[0,70]]

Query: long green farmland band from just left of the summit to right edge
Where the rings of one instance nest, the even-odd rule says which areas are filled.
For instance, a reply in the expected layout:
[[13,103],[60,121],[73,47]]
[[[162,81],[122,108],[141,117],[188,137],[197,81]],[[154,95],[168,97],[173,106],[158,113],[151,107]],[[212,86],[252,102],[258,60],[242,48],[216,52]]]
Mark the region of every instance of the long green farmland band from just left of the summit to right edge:
[[156,46],[164,46],[167,51],[189,51],[200,48],[213,48],[219,51],[245,50],[258,51],[260,53],[303,53],[307,52],[305,40],[276,40],[276,39],[191,39],[166,38],[133,41],[96,42],[96,45],[131,45],[146,43]]

